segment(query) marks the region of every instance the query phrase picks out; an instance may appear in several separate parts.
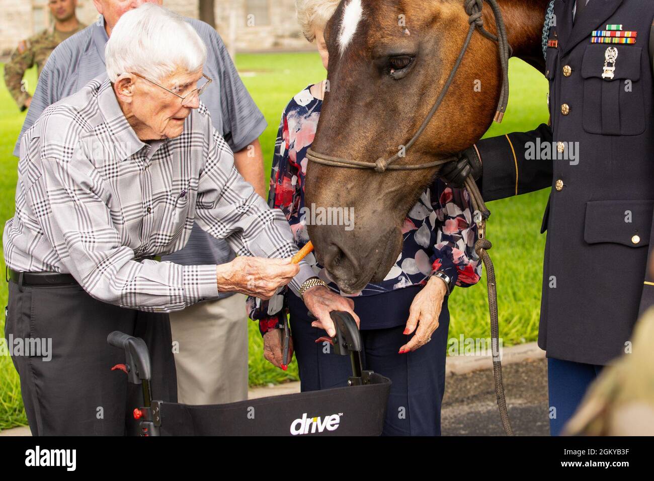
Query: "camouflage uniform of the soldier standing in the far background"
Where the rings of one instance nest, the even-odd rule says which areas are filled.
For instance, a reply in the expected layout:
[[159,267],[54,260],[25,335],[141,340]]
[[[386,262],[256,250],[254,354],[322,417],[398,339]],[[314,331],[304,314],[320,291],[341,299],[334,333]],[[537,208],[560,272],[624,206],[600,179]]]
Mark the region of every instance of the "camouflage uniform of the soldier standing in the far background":
[[30,97],[27,88],[24,88],[22,84],[26,70],[36,64],[38,75],[41,75],[41,69],[43,69],[43,65],[48,60],[52,50],[85,27],[86,25],[80,23],[77,29],[62,32],[55,29],[54,24],[52,24],[49,28],[18,43],[18,46],[11,54],[9,62],[5,64],[5,84],[7,84],[9,93],[21,111],[27,108],[25,102]]

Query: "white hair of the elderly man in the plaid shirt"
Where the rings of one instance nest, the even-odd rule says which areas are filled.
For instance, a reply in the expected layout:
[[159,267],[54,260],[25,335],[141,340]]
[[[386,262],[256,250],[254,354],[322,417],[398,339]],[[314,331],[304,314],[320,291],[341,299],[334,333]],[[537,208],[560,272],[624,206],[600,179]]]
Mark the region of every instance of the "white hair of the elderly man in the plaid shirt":
[[207,60],[207,47],[183,17],[154,3],[124,13],[105,48],[109,80],[135,72],[160,81],[176,69],[195,72]]

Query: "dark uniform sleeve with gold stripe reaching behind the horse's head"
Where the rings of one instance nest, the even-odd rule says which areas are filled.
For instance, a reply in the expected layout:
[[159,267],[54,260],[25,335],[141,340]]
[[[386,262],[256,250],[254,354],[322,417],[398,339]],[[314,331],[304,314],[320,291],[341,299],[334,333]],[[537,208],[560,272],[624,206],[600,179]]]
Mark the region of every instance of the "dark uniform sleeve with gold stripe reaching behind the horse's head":
[[547,124],[530,132],[490,137],[475,144],[483,168],[477,185],[480,185],[485,202],[551,187],[552,157],[546,160],[540,160],[540,156],[530,158],[530,150],[526,148],[529,143],[534,148],[549,143],[550,149],[556,149],[552,146],[552,130]]

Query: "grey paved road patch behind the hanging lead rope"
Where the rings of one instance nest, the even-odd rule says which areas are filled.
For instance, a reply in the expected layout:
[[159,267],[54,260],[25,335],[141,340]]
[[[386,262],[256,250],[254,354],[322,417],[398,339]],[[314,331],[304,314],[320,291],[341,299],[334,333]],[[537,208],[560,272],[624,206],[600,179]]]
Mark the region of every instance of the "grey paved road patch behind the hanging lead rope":
[[[517,436],[549,436],[547,361],[503,366],[509,418]],[[455,374],[445,381],[443,436],[503,436],[492,370]]]

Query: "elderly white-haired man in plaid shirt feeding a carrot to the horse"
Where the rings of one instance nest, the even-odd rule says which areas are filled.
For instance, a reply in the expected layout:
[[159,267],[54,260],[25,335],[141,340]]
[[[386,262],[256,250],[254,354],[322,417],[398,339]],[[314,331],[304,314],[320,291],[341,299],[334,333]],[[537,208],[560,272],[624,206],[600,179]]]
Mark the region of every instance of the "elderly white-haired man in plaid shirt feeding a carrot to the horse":
[[[234,168],[199,102],[213,80],[206,56],[183,18],[152,4],[131,10],[107,43],[108,78],[48,107],[22,137],[16,215],[3,235],[6,334],[52,340],[49,361],[12,357],[34,435],[124,434],[135,393],[110,371],[122,362],[106,342],[112,330],[145,338],[154,394],[174,401],[168,312],[225,291],[270,298],[287,283],[332,333],[330,310],[352,312],[351,300],[315,285],[308,264],[290,263],[283,213]],[[150,258],[183,247],[194,222],[240,257]]]

